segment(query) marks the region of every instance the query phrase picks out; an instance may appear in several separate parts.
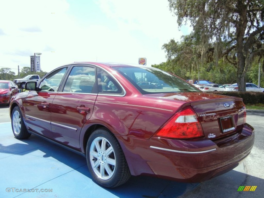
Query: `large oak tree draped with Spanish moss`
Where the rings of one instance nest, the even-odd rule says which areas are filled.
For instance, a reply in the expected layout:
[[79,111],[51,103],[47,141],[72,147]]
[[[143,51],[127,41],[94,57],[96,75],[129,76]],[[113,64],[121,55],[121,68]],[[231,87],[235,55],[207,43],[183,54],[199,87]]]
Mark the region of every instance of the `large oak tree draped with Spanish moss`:
[[[202,46],[201,59],[214,43],[214,57],[237,67],[239,91],[254,57],[264,54],[264,0],[168,0],[179,27],[190,21]],[[224,41],[224,42],[223,42]]]

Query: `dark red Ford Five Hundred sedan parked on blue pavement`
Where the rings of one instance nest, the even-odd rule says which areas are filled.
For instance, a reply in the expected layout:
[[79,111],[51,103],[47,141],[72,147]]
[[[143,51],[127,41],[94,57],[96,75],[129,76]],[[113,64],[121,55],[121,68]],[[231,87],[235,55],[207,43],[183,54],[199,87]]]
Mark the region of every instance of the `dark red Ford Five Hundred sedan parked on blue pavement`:
[[108,188],[130,175],[205,181],[238,166],[254,143],[242,98],[201,92],[153,67],[72,63],[26,89],[10,105],[15,137],[33,133],[83,155]]

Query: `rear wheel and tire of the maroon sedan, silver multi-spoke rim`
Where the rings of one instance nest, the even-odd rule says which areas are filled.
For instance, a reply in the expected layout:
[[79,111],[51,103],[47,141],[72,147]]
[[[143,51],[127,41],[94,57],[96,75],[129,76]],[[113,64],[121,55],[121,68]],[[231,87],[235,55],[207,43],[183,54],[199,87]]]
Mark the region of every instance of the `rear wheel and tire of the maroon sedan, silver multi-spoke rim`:
[[[105,145],[104,148],[102,144]],[[107,150],[110,150],[108,154]],[[103,187],[120,186],[131,176],[119,142],[105,128],[95,130],[89,137],[86,146],[86,161],[93,179]]]

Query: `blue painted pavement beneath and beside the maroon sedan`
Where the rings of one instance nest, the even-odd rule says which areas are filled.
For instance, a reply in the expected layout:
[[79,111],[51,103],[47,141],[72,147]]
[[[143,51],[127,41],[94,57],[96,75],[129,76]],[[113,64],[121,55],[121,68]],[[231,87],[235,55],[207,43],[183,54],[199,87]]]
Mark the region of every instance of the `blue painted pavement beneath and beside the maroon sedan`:
[[86,159],[35,135],[14,138],[11,122],[0,123],[0,197],[177,197],[197,183],[131,177],[107,189],[93,182]]

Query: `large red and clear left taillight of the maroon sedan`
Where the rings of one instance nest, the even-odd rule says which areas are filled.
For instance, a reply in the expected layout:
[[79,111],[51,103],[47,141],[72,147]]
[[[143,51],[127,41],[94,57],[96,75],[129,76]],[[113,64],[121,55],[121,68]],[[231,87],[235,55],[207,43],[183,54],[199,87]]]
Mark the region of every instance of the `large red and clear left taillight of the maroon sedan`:
[[204,136],[201,123],[191,107],[176,113],[156,134],[165,138],[196,138]]

